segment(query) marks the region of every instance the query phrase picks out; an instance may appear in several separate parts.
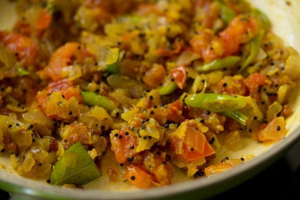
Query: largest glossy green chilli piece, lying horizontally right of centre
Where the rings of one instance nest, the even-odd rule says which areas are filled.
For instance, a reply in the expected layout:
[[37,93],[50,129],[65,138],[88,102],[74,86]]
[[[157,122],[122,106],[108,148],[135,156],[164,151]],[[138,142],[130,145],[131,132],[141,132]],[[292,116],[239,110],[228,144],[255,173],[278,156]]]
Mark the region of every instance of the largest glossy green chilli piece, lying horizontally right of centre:
[[242,98],[217,93],[191,94],[185,97],[184,102],[189,106],[213,112],[233,111],[246,105]]

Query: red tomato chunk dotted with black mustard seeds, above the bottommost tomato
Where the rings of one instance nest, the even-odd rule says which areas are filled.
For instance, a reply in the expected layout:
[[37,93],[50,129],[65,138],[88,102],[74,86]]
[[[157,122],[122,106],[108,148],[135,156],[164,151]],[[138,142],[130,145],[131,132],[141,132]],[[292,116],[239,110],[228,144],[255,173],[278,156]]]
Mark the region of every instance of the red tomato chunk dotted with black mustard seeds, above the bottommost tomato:
[[[137,146],[137,137],[131,134],[125,135],[124,130],[119,130],[117,135],[121,135],[122,138],[115,136],[115,133],[110,133],[111,149],[114,151],[115,158],[119,163],[124,163],[128,157],[135,156],[137,152],[135,148]],[[130,148],[134,146],[134,148]]]

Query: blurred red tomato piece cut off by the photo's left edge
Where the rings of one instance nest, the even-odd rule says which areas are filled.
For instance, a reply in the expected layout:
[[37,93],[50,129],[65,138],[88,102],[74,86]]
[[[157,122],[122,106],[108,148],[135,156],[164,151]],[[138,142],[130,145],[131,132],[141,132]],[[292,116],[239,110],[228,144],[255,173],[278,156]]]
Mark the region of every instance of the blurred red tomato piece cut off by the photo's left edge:
[[25,68],[33,65],[36,57],[36,45],[32,39],[17,32],[0,31],[0,42],[14,53]]

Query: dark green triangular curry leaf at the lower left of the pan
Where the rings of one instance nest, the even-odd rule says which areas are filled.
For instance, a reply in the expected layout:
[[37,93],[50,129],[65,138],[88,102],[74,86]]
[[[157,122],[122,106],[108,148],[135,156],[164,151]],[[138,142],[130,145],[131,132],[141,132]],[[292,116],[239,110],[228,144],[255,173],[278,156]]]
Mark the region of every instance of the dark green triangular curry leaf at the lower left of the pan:
[[53,167],[51,183],[82,185],[101,176],[95,163],[80,142],[65,150]]

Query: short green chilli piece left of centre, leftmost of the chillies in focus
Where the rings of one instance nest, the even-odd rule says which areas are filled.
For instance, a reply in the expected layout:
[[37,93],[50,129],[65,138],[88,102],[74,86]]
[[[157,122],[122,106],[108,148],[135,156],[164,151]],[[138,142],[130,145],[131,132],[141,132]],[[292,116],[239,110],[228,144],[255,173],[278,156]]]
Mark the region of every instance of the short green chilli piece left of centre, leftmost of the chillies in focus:
[[85,105],[98,105],[107,109],[108,111],[117,109],[106,96],[98,95],[91,91],[81,91],[81,95],[83,97],[83,103]]

